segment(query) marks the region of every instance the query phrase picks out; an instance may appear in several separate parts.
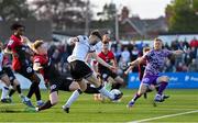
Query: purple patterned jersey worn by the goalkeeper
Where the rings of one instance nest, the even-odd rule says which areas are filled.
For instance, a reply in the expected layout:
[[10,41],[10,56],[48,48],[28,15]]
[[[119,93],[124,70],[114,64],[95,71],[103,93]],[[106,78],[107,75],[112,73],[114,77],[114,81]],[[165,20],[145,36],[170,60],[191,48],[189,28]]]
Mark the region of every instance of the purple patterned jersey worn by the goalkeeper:
[[146,67],[144,70],[144,75],[158,75],[165,65],[166,58],[172,55],[172,51],[161,49],[155,51],[152,49],[144,57],[146,58]]

